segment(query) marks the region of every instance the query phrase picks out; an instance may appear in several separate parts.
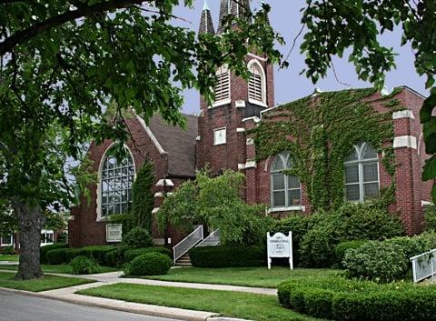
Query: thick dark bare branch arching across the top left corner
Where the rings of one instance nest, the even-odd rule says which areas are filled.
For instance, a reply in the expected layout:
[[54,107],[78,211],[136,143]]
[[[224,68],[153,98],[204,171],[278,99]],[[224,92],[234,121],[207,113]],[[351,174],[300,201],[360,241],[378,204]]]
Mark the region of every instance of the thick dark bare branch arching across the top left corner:
[[[0,0],[2,1],[2,0]],[[73,21],[78,18],[101,14],[106,11],[114,9],[121,9],[128,5],[141,5],[144,2],[150,2],[151,0],[108,0],[104,3],[98,3],[95,5],[84,5],[76,10],[65,12],[61,15],[55,15],[46,19],[40,23],[32,25],[22,31],[16,32],[14,35],[7,37],[0,43],[0,56],[10,52],[16,45],[20,45],[34,38],[36,35],[42,34],[51,28],[58,25],[63,25],[68,21]]]

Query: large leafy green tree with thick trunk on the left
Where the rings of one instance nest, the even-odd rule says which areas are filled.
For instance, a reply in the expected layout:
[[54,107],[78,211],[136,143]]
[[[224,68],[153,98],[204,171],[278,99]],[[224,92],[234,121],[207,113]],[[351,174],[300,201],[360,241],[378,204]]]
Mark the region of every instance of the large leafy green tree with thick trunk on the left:
[[[267,24],[268,5],[228,16],[220,36],[198,38],[171,24],[175,5],[178,0],[0,0],[0,199],[18,219],[17,278],[42,276],[42,212],[72,199],[66,156],[77,158],[84,143],[105,138],[117,141],[122,154],[130,106],[146,122],[159,112],[183,125],[183,89],[211,98],[215,68],[229,65],[247,77],[249,51],[278,63],[273,43],[282,39]],[[116,116],[108,120],[103,106],[111,100]]]

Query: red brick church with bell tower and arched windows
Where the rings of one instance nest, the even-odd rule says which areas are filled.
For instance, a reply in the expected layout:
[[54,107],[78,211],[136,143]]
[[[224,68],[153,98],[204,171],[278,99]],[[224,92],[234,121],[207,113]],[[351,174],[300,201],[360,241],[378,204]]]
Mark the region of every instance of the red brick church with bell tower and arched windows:
[[[217,30],[211,11],[205,5],[200,22],[200,33],[220,34],[225,15],[239,15],[248,0],[222,0]],[[289,150],[275,155],[260,156],[253,129],[263,122],[282,121],[283,110],[274,104],[273,67],[267,57],[249,54],[246,62],[251,77],[248,82],[233,75],[225,66],[217,69],[215,101],[208,105],[200,98],[200,115],[184,115],[186,129],[173,127],[154,115],[145,124],[140,116],[127,120],[133,139],[126,143],[129,155],[117,162],[109,152],[113,142],[92,143],[89,157],[94,161],[98,183],[90,186],[91,202],[84,200],[71,209],[69,221],[70,246],[101,245],[106,243],[107,217],[126,213],[132,202],[132,183],[135,173],[149,159],[154,164],[154,211],[159,211],[163,194],[171,192],[183,181],[192,179],[195,170],[209,166],[214,173],[224,168],[241,171],[246,176],[243,198],[248,203],[266,204],[270,213],[280,216],[292,213],[310,214],[308,187],[298,176],[285,175],[282,170],[292,166]],[[352,95],[353,90],[350,90]],[[303,98],[308,104],[316,102],[321,93]],[[389,109],[381,93],[365,97],[373,113],[386,115],[392,126],[392,136],[380,142],[391,148],[395,172],[391,176],[381,162],[384,152],[372,147],[371,142],[352,142],[350,155],[343,159],[343,198],[363,202],[378,196],[395,182],[392,213],[398,213],[408,234],[421,232],[423,207],[430,204],[432,182],[421,181],[421,168],[427,155],[422,142],[419,117],[424,97],[411,88],[397,88],[390,96]],[[304,101],[304,100],[303,100]],[[290,103],[292,104],[292,103]],[[292,137],[287,137],[292,141]],[[355,143],[355,144],[354,144]],[[169,228],[164,236],[153,231],[154,241],[160,245],[175,245],[183,235]]]

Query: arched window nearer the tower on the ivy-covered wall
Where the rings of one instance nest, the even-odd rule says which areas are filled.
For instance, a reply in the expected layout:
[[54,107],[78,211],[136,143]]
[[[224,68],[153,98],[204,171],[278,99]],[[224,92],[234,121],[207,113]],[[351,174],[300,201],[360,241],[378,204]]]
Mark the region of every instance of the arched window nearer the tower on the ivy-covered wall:
[[276,155],[271,166],[271,206],[286,208],[302,205],[302,186],[297,176],[283,174],[292,168],[291,155],[282,152]]

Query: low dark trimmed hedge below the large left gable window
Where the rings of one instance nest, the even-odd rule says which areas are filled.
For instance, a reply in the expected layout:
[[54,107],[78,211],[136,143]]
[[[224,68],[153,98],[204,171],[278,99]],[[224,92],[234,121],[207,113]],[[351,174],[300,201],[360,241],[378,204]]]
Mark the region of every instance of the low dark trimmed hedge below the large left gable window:
[[48,251],[46,254],[47,262],[50,265],[69,263],[75,256],[92,257],[100,264],[104,265],[104,256],[107,252],[113,251],[114,246],[85,246],[79,248],[58,248]]

